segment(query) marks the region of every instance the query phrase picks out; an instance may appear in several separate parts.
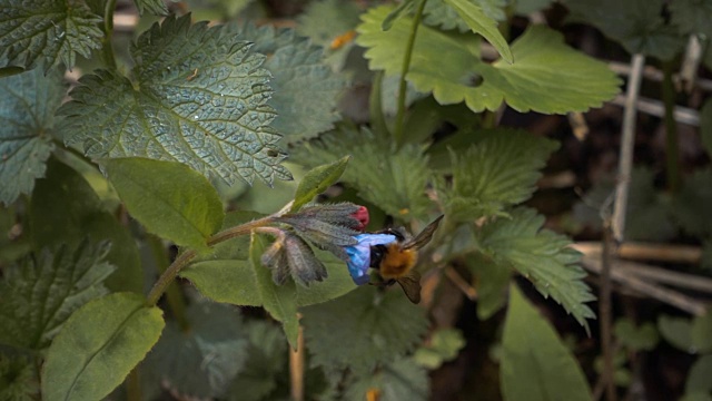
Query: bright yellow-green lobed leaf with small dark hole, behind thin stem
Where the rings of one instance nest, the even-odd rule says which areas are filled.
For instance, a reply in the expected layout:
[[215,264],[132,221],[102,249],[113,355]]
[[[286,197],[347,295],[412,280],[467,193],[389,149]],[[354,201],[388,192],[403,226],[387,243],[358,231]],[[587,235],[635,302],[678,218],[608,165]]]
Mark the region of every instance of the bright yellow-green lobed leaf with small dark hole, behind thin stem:
[[[389,10],[378,7],[364,14],[357,42],[368,48],[372,69],[396,75],[411,20],[400,18],[384,32],[380,22]],[[561,33],[543,26],[528,28],[512,45],[512,65],[482,61],[478,43],[421,27],[406,78],[442,105],[464,100],[474,111],[496,110],[503,101],[523,113],[585,111],[619,92],[620,80],[605,63],[567,47]]]

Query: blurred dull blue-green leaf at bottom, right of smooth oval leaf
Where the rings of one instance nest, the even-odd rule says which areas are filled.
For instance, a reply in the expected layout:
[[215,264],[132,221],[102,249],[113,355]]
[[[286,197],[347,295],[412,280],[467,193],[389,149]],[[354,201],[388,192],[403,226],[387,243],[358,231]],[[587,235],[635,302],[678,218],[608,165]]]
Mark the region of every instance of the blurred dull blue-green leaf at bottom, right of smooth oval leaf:
[[188,332],[167,324],[146,361],[148,374],[184,399],[224,397],[247,360],[244,323],[231,306],[205,301],[190,304],[186,317]]

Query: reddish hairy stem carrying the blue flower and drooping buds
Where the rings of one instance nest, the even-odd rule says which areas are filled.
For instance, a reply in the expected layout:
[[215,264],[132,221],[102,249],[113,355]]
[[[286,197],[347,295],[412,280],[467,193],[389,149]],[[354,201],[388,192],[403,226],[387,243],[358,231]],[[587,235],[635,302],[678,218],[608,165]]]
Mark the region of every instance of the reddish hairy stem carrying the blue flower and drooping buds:
[[[214,246],[216,244],[238,237],[240,235],[249,234],[255,228],[264,227],[267,224],[273,223],[273,219],[274,219],[274,216],[267,216],[267,217],[263,217],[249,223],[240,224],[238,226],[225,229],[209,237],[207,241],[207,244],[208,246]],[[158,281],[156,282],[156,284],[154,284],[154,287],[151,288],[151,291],[148,293],[146,303],[149,306],[155,306],[156,303],[158,303],[158,300],[164,294],[164,292],[166,292],[166,288],[168,288],[168,285],[170,285],[170,283],[174,282],[178,273],[184,267],[186,267],[190,263],[190,261],[192,261],[192,258],[196,257],[196,255],[197,255],[196,251],[188,250],[182,254],[180,254],[174,261],[174,263],[171,263],[170,266],[168,266],[168,268],[160,275],[160,277],[158,277]]]

